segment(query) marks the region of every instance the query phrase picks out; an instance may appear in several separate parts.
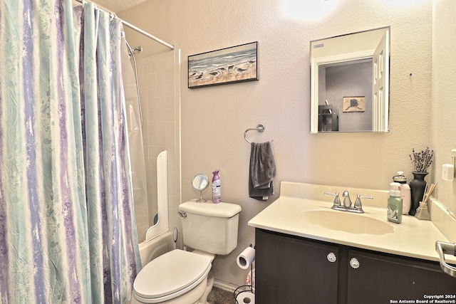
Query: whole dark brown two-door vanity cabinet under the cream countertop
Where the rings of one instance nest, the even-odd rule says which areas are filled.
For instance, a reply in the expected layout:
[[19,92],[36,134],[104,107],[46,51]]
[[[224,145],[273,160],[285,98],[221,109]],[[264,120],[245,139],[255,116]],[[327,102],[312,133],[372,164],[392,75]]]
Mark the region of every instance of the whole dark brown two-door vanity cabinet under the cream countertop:
[[455,300],[456,278],[437,262],[262,229],[256,229],[255,247],[256,303],[383,304],[427,300],[425,295]]

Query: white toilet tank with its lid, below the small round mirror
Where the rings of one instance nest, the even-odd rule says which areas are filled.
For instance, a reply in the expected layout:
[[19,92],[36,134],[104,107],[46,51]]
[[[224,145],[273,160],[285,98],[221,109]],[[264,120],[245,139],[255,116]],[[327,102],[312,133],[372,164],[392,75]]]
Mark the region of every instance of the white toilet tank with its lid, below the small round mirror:
[[193,249],[226,255],[237,246],[237,229],[241,206],[211,202],[197,203],[196,199],[178,206],[182,214],[184,244]]

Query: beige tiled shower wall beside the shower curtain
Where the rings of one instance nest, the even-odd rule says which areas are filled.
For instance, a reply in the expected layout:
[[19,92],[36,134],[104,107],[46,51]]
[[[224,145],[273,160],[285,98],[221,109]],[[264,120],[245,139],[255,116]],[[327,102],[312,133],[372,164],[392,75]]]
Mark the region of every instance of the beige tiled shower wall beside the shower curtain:
[[[157,155],[167,150],[169,227],[177,227],[180,181],[180,50],[138,58],[149,224],[157,214]],[[144,241],[145,236],[138,236]]]

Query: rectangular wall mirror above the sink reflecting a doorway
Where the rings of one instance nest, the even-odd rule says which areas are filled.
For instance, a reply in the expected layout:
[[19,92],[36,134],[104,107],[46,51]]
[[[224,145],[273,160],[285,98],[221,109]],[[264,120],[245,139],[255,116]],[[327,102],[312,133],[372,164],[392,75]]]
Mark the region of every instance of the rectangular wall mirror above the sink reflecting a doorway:
[[310,43],[311,133],[388,132],[390,27]]

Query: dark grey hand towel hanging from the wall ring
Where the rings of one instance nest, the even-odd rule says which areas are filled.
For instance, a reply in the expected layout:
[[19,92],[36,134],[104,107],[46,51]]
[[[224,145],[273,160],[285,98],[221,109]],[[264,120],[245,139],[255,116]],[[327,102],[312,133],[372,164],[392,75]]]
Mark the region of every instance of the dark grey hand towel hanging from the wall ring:
[[274,194],[276,164],[272,154],[271,142],[258,144],[252,142],[250,148],[249,196],[266,201]]

